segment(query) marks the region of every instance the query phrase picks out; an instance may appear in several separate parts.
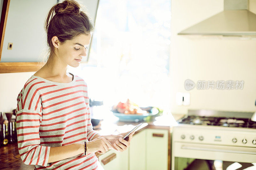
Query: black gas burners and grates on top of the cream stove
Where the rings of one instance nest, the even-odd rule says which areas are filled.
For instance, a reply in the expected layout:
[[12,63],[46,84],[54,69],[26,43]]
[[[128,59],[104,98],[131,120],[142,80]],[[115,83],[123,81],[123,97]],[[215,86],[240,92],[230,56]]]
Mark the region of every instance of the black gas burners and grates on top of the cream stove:
[[256,122],[249,118],[226,118],[190,115],[180,120],[181,124],[212,125],[225,127],[256,128]]

